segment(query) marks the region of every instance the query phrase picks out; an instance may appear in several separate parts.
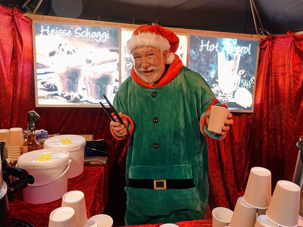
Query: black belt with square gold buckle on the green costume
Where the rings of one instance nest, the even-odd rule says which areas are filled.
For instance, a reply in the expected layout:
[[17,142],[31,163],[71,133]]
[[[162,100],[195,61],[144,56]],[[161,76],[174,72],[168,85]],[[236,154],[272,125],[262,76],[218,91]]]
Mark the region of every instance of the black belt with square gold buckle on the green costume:
[[189,189],[194,188],[192,179],[131,179],[128,178],[127,187],[141,189]]

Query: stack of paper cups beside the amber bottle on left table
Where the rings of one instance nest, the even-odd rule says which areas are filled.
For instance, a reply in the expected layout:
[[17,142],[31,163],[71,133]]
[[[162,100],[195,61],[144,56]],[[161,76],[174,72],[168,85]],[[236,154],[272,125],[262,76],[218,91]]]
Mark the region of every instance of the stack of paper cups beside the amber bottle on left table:
[[11,162],[18,160],[21,146],[24,144],[22,128],[11,128],[8,133],[8,158]]

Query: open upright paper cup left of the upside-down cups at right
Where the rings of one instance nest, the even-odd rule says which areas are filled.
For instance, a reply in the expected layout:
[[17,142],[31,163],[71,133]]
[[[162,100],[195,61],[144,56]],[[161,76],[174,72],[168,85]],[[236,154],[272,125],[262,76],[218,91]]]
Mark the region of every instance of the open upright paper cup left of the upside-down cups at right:
[[225,207],[216,207],[212,210],[212,226],[224,227],[228,226],[233,215],[233,211]]

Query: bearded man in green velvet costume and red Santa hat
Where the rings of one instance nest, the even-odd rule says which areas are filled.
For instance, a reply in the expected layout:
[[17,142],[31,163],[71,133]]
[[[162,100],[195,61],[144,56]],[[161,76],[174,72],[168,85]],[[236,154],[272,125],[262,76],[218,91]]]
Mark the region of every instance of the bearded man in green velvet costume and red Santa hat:
[[[210,107],[223,106],[198,73],[175,54],[179,39],[159,25],[137,28],[126,44],[134,64],[114,100],[131,135],[126,161],[125,224],[205,219],[208,203],[206,138]],[[126,128],[111,122],[122,140]]]

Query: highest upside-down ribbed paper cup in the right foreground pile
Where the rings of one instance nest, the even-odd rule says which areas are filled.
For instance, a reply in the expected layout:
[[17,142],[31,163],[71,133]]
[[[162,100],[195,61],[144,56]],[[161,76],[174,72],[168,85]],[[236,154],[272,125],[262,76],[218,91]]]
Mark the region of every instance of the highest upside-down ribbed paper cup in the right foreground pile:
[[244,201],[257,209],[267,209],[271,200],[271,172],[262,167],[250,170]]

